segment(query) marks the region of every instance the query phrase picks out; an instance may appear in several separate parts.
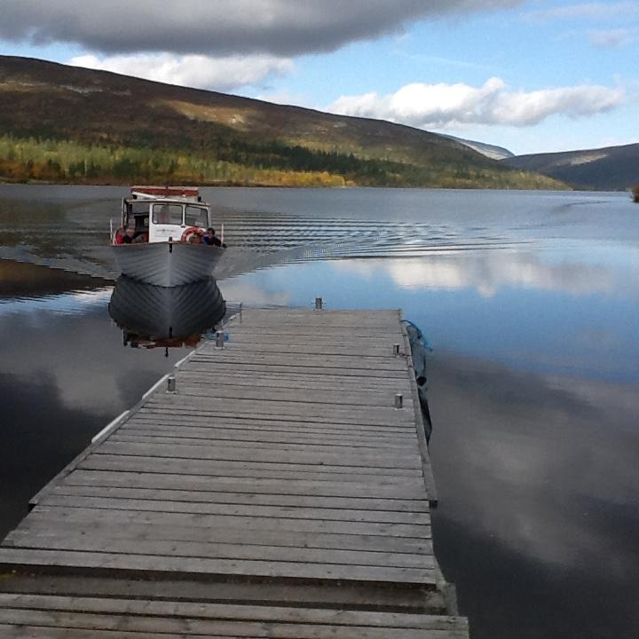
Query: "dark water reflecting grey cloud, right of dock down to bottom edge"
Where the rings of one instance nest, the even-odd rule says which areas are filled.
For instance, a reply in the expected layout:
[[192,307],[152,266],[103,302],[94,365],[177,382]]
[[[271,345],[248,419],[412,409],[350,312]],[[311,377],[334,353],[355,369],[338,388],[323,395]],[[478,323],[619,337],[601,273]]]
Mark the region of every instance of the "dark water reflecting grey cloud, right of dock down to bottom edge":
[[430,364],[434,538],[474,635],[636,636],[639,384]]

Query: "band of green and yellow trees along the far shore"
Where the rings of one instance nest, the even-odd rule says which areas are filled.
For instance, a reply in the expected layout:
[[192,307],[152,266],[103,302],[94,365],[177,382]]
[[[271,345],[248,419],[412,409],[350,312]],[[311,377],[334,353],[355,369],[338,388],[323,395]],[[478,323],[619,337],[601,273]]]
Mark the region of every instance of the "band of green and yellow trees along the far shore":
[[462,162],[416,166],[353,154],[311,150],[278,142],[216,140],[212,149],[171,150],[99,145],[54,138],[0,136],[0,177],[15,182],[73,184],[185,184],[286,186],[442,186],[451,188],[548,188],[552,180]]

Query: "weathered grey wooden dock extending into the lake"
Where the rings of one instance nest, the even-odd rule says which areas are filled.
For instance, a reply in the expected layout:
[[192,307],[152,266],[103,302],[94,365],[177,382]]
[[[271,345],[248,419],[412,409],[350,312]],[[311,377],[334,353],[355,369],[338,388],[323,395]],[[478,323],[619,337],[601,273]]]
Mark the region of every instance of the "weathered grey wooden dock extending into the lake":
[[468,637],[399,319],[232,319],[36,495],[0,636]]

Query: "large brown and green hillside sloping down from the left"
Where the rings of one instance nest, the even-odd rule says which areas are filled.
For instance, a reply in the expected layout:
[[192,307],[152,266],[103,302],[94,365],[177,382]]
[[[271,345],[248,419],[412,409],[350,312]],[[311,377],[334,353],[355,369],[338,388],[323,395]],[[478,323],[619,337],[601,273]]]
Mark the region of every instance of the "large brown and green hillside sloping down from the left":
[[0,178],[557,188],[411,127],[0,56]]

